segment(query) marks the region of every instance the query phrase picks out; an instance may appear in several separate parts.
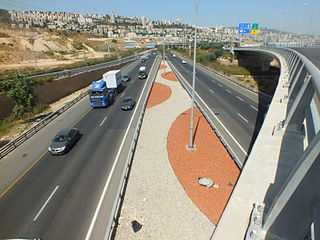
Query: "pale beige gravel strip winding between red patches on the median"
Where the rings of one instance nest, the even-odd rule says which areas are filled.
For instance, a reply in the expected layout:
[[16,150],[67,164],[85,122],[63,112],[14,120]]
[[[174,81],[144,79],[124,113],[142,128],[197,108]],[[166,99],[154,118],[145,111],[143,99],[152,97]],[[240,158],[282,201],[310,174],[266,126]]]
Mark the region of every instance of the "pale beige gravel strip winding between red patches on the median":
[[[188,197],[170,165],[167,136],[175,119],[190,107],[179,82],[161,74],[169,99],[146,110],[115,239],[209,239],[214,224]],[[135,231],[134,231],[135,230]]]

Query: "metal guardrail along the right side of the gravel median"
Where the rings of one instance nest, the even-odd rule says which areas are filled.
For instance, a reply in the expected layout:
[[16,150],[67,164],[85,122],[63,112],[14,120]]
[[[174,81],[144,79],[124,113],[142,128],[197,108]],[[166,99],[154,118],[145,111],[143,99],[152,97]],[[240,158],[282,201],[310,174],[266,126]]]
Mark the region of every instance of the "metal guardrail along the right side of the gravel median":
[[[187,83],[185,82],[185,79],[182,77],[182,75],[179,73],[179,71],[174,67],[174,65],[171,63],[171,61],[167,60],[170,67],[172,68],[172,70],[175,72],[176,76],[179,78],[180,83],[182,84],[182,86],[186,89],[187,93],[191,96],[191,89],[189,89]],[[228,144],[228,142],[225,140],[225,138],[223,137],[223,134],[221,134],[221,132],[219,131],[219,129],[217,128],[217,126],[215,125],[214,121],[213,121],[213,117],[211,117],[208,112],[209,109],[205,104],[202,104],[197,97],[195,98],[195,103],[197,105],[197,107],[199,108],[199,110],[201,111],[201,113],[203,114],[203,116],[205,117],[205,119],[208,121],[208,123],[210,124],[211,128],[214,130],[214,132],[216,133],[216,135],[218,136],[218,138],[220,139],[221,143],[224,145],[224,147],[227,149],[227,151],[229,152],[229,154],[231,155],[231,157],[234,159],[234,161],[236,162],[236,164],[238,165],[238,167],[241,169],[243,167],[243,163],[240,161],[240,159],[237,157],[236,153],[233,151],[232,147]]]

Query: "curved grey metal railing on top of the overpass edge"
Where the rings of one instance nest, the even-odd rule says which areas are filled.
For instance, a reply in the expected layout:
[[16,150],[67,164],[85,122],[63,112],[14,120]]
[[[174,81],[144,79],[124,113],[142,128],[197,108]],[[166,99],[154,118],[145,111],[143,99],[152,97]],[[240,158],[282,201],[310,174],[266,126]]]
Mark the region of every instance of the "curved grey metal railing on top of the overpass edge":
[[[285,76],[283,86],[278,88],[286,90],[280,99],[280,103],[286,104],[286,112],[272,134],[282,137],[282,146],[288,145],[289,136],[291,144],[295,139],[296,143],[304,145],[299,152],[295,149],[295,156],[289,158],[281,156],[281,153],[293,150],[290,145],[281,149],[279,159],[290,162],[285,166],[290,174],[278,183],[281,188],[267,209],[263,209],[263,203],[255,203],[246,239],[265,239],[266,234],[286,239],[307,239],[308,229],[309,234],[318,239],[320,201],[315,189],[320,181],[320,104],[317,102],[320,99],[320,69],[304,55],[289,48],[238,50],[271,53],[285,60],[281,67],[286,68],[289,74]],[[281,173],[281,169],[278,171]],[[259,224],[255,221],[258,217],[263,219]]]

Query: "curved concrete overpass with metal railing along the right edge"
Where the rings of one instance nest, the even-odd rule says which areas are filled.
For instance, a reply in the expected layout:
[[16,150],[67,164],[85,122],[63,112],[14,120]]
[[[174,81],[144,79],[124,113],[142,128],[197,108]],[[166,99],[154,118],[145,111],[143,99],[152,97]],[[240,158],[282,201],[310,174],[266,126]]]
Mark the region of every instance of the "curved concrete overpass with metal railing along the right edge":
[[275,57],[281,74],[212,239],[320,239],[320,48],[234,51]]

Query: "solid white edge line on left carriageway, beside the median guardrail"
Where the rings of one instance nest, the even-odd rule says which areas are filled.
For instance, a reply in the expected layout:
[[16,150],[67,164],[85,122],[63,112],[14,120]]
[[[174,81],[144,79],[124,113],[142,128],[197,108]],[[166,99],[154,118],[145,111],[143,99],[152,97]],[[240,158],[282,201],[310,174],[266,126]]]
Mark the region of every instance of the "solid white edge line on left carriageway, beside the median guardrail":
[[[156,62],[156,60],[154,60],[152,66],[151,66],[151,69],[153,69],[153,66],[154,66],[155,62]],[[91,220],[91,224],[90,224],[90,227],[89,227],[89,230],[88,230],[88,232],[87,232],[87,235],[86,235],[85,240],[89,240],[90,237],[91,237],[91,234],[92,234],[92,231],[93,231],[93,227],[94,227],[94,225],[95,225],[95,223],[96,223],[96,221],[97,221],[97,217],[98,217],[100,208],[101,208],[101,206],[102,206],[103,199],[104,199],[104,197],[105,197],[105,195],[106,195],[106,193],[107,193],[107,189],[108,189],[108,187],[109,187],[109,184],[110,184],[110,181],[111,181],[111,177],[112,177],[113,172],[114,172],[114,169],[116,168],[116,165],[117,165],[117,163],[118,163],[118,161],[119,161],[120,153],[121,153],[121,151],[122,151],[124,142],[125,142],[125,140],[126,140],[126,138],[127,138],[127,135],[128,135],[128,133],[129,133],[129,129],[131,128],[131,124],[132,124],[133,119],[134,119],[134,117],[135,117],[135,114],[136,114],[136,111],[137,111],[137,109],[138,109],[138,106],[139,106],[139,103],[140,103],[140,101],[141,101],[141,98],[142,98],[142,95],[143,95],[143,93],[144,93],[144,90],[145,90],[145,88],[146,88],[146,86],[147,86],[148,79],[149,79],[149,75],[148,75],[148,78],[147,78],[147,80],[145,81],[144,87],[143,87],[143,89],[142,89],[142,91],[141,91],[140,98],[139,98],[139,100],[138,100],[138,102],[137,102],[137,104],[136,104],[136,107],[135,107],[135,109],[134,109],[134,112],[133,112],[133,114],[132,114],[132,117],[131,117],[131,120],[130,120],[130,122],[129,122],[127,131],[125,132],[124,137],[123,137],[123,139],[122,139],[122,142],[121,142],[121,144],[120,144],[119,150],[118,150],[118,152],[117,152],[117,156],[116,156],[116,158],[115,158],[115,161],[113,162],[113,165],[112,165],[111,171],[110,171],[110,173],[109,173],[107,182],[106,182],[106,184],[104,185],[104,188],[103,188],[101,197],[100,197],[100,199],[99,199],[98,205],[97,205],[97,207],[96,207],[96,210],[95,210],[95,212],[94,212],[93,218],[92,218],[92,220]]]

